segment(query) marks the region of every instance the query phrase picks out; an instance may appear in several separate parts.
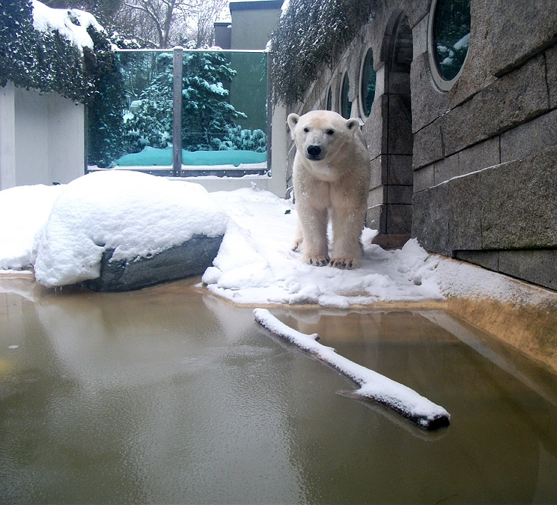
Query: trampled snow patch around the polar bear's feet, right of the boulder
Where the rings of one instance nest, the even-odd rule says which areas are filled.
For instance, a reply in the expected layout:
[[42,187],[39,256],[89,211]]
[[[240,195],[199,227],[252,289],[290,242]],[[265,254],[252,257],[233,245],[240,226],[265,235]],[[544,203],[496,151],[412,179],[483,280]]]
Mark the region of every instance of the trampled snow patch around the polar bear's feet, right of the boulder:
[[302,304],[326,307],[385,300],[437,300],[443,296],[428,272],[437,265],[415,240],[387,252],[364,230],[361,268],[314,267],[291,251],[296,233],[294,206],[264,191],[211,193],[228,211],[229,225],[214,267],[203,281],[211,292],[240,304]]

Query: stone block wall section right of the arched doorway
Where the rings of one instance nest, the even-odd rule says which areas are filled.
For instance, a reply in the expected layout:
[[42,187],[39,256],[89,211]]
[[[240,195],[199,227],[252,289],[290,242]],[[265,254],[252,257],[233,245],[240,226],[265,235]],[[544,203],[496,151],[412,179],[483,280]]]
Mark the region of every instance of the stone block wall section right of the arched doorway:
[[468,59],[448,93],[428,85],[425,53],[413,59],[412,235],[555,290],[557,11],[476,0],[471,15]]

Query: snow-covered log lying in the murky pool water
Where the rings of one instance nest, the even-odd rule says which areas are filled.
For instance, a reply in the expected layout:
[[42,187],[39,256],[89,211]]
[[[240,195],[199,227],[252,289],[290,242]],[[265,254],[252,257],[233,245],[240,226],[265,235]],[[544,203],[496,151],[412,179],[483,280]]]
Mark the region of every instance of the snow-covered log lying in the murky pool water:
[[371,399],[386,405],[406,417],[423,429],[435,429],[447,426],[451,416],[437,404],[416,393],[413,389],[403,386],[384,375],[373,372],[350,359],[336,354],[332,347],[326,347],[316,342],[317,334],[305,335],[288,327],[271,315],[269,310],[256,309],[254,317],[260,325],[274,335],[293,343],[320,361],[341,372],[360,386],[351,396],[361,399]]

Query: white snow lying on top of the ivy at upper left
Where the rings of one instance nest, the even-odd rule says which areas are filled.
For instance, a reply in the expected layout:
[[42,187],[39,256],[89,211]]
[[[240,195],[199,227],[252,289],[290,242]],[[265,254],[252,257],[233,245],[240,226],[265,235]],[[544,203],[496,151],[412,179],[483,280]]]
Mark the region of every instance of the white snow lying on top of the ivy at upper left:
[[104,28],[89,12],[80,9],[52,9],[38,0],[31,0],[31,3],[34,29],[43,32],[57,30],[80,51],[84,47],[93,49],[93,41],[87,33],[89,26],[104,33]]

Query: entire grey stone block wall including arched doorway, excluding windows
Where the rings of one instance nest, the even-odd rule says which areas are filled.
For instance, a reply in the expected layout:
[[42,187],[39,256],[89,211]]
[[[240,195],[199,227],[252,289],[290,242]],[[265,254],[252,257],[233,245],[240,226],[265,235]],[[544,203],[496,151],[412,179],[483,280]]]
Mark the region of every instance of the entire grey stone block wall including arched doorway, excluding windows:
[[[359,0],[358,0],[359,1]],[[361,0],[363,1],[363,0]],[[424,248],[557,289],[557,9],[553,0],[473,0],[468,56],[449,91],[433,83],[431,0],[381,1],[297,113],[340,110],[350,77],[378,243]],[[359,73],[373,50],[376,94],[361,110]]]

